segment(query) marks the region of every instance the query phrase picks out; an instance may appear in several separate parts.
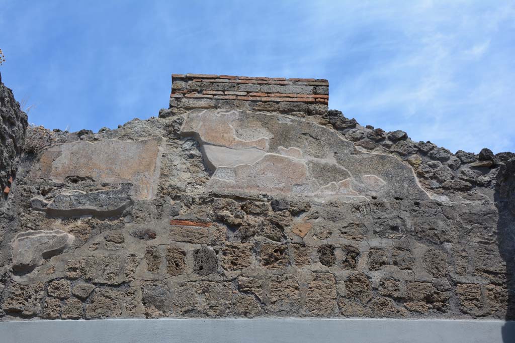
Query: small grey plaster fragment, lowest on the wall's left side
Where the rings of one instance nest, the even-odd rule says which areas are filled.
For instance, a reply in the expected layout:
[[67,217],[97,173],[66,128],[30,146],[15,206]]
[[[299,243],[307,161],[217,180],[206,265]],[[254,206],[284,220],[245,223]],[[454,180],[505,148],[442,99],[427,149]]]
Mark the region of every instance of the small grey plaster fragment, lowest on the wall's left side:
[[44,259],[61,254],[73,243],[74,237],[62,230],[37,230],[16,234],[12,241],[12,267],[29,272]]

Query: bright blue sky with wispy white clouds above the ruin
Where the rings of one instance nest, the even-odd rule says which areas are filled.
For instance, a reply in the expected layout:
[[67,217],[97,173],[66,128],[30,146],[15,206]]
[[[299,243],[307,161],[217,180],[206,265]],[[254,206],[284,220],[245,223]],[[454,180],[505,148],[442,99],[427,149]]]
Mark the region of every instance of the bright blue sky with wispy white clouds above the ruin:
[[47,128],[157,116],[171,73],[315,77],[363,125],[515,151],[514,19],[515,1],[0,0],[0,72]]

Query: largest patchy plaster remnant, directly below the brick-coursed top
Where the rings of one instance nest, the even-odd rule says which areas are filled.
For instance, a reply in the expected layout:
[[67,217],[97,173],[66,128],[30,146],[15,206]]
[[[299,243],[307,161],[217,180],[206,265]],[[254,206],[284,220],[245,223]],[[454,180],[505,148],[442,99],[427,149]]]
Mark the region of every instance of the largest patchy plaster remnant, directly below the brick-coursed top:
[[[359,153],[351,142],[308,121],[197,110],[187,114],[181,133],[200,143],[204,162],[214,171],[208,185],[213,191],[356,200],[427,197],[413,172],[396,159]],[[403,187],[396,187],[399,183]]]

